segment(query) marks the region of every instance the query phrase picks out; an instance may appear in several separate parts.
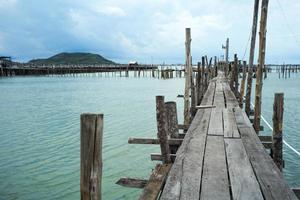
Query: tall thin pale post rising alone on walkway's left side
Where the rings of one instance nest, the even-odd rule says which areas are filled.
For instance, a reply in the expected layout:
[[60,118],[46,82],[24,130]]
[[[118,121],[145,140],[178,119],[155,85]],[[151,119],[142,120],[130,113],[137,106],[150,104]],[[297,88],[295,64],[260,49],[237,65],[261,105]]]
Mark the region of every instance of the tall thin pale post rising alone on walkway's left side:
[[191,85],[191,29],[185,29],[185,92],[184,92],[184,124],[190,124],[190,85]]

